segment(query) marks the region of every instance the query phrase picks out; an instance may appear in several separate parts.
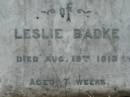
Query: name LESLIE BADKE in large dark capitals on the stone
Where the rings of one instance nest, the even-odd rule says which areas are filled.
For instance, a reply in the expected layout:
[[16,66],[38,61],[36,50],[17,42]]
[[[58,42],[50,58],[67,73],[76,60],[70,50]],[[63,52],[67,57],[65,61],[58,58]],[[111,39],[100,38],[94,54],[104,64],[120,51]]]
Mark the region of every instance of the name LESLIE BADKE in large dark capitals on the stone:
[[[117,28],[73,29],[74,39],[118,39]],[[15,39],[62,39],[63,29],[15,29]]]

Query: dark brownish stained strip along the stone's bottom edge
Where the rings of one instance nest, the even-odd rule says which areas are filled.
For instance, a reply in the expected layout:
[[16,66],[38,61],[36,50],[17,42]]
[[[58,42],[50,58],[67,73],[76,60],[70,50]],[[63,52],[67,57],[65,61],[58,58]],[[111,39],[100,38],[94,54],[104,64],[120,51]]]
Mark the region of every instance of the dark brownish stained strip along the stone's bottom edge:
[[2,88],[0,97],[130,97],[129,90],[116,90],[106,92],[82,91],[74,92],[71,89],[32,89],[6,86]]

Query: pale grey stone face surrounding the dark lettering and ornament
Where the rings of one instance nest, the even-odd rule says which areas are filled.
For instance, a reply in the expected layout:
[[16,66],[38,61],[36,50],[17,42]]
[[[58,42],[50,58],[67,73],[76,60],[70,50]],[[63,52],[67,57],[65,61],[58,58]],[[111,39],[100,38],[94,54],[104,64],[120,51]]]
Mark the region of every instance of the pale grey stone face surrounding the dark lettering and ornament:
[[[89,18],[85,15],[71,13],[71,22],[66,22],[59,14],[46,15],[42,10],[65,8],[73,3],[73,10],[81,8],[92,10]],[[36,17],[39,17],[37,20]],[[87,27],[119,28],[120,40],[82,41],[72,38],[72,29]],[[62,28],[64,39],[15,40],[14,29],[23,28]],[[130,62],[119,61],[115,64],[96,63],[21,63],[16,62],[18,55],[39,56],[73,54],[96,55],[130,55],[130,0],[0,0],[0,85],[29,86],[30,78],[64,79],[82,78],[105,79],[108,86],[130,87]],[[116,48],[116,51],[114,50]],[[72,86],[75,83],[72,82]],[[89,87],[89,86],[85,86]],[[94,86],[96,87],[96,86]]]

